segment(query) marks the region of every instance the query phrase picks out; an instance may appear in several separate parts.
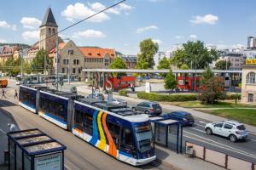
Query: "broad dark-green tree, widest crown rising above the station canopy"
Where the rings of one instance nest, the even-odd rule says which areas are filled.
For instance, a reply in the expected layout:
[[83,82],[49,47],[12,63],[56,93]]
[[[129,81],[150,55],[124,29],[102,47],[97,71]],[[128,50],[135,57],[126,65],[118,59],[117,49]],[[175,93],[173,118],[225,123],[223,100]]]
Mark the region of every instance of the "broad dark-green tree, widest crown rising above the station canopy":
[[183,48],[177,49],[177,51],[174,52],[172,64],[176,65],[178,68],[186,64],[190,66],[190,69],[205,69],[212,61],[217,59],[218,52],[215,49],[209,51],[205,47],[204,42],[189,41],[183,43]]

